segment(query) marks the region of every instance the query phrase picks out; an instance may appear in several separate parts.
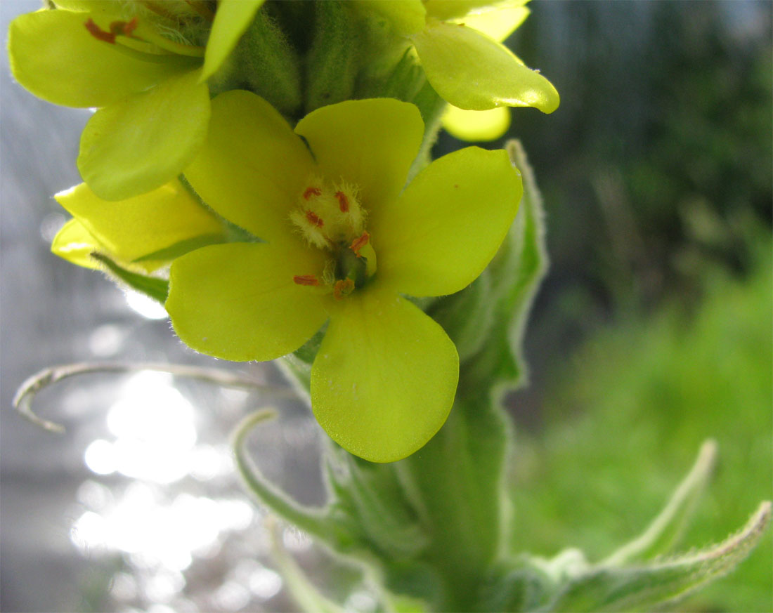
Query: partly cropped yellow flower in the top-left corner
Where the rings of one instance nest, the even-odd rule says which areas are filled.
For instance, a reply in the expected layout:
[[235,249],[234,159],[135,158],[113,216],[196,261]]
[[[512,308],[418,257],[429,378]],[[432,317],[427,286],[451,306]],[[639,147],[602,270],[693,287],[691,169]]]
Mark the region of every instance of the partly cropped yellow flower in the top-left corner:
[[[9,28],[15,79],[66,107],[97,107],[78,169],[122,200],[175,178],[206,137],[209,88],[264,0],[56,0]],[[206,45],[206,48],[205,48]]]

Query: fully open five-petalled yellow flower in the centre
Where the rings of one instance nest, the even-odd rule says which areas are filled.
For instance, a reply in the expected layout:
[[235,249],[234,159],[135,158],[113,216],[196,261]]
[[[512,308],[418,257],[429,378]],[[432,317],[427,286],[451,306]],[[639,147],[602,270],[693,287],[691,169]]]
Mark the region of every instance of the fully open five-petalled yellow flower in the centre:
[[221,94],[186,178],[265,242],[197,249],[170,271],[172,326],[197,351],[271,360],[326,323],[312,409],[332,439],[373,462],[431,439],[458,381],[454,344],[403,296],[471,283],[522,191],[504,151],[477,147],[432,162],[404,188],[423,134],[417,108],[397,100],[322,107],[294,133],[260,97]]

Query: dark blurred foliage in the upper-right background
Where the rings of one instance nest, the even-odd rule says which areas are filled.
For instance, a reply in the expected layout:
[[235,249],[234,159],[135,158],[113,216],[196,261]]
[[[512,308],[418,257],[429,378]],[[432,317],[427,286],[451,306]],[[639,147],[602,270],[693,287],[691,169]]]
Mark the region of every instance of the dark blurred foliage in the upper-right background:
[[[548,208],[553,286],[591,288],[604,315],[690,289],[683,252],[742,272],[732,232],[696,234],[696,207],[770,225],[773,5],[536,3],[512,41],[562,93],[516,114]],[[521,36],[522,38],[519,38]],[[534,47],[535,49],[532,49]]]

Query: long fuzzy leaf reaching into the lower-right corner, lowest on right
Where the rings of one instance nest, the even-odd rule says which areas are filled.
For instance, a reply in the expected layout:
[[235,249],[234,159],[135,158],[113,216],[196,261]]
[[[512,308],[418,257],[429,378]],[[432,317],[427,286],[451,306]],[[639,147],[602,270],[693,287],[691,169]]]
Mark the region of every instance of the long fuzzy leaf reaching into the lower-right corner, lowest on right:
[[595,567],[540,611],[649,611],[732,571],[759,543],[771,517],[765,502],[722,543],[645,567]]

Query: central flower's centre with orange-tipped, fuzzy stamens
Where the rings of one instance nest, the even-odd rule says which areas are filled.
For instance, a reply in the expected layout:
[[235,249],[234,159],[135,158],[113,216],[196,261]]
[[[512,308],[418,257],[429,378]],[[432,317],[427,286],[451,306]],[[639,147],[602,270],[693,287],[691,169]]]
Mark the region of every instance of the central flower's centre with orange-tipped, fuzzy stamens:
[[356,185],[312,177],[298,196],[290,221],[309,247],[329,253],[321,273],[293,277],[298,285],[324,287],[341,300],[376,272],[376,253]]

